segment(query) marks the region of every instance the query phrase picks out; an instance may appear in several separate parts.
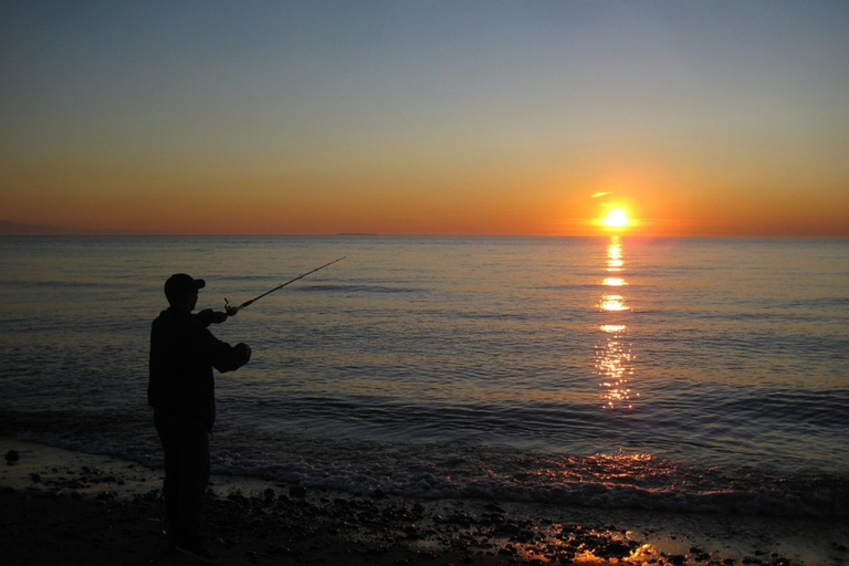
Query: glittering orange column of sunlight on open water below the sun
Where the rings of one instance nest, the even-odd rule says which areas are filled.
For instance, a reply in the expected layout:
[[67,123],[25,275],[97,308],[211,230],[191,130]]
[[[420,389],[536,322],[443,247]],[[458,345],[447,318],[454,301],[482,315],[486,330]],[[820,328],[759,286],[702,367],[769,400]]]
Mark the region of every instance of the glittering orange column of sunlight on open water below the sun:
[[625,259],[622,245],[619,237],[610,238],[610,244],[607,247],[607,272],[616,273],[617,276],[607,276],[601,281],[601,285],[616,289],[616,292],[604,292],[598,302],[598,308],[611,319],[601,324],[599,329],[604,333],[605,339],[596,345],[594,374],[601,378],[598,384],[601,388],[601,398],[605,408],[608,409],[632,409],[633,399],[640,394],[631,388],[631,380],[635,374],[635,356],[631,352],[631,344],[627,340],[628,326],[619,319],[630,311],[626,304],[626,297],[621,294],[621,287],[628,285],[621,273],[625,271]]

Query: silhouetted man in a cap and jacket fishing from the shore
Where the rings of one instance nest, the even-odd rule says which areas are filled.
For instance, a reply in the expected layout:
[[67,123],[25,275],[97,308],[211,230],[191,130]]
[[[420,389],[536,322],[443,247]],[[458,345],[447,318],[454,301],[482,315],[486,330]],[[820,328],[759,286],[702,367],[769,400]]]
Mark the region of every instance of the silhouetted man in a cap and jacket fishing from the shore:
[[247,344],[230,346],[207,329],[227,319],[211,310],[192,314],[202,279],[177,273],[165,282],[168,308],[150,328],[148,403],[165,450],[165,505],[174,547],[218,564],[200,535],[209,484],[209,432],[216,421],[212,368],[240,368],[251,358]]

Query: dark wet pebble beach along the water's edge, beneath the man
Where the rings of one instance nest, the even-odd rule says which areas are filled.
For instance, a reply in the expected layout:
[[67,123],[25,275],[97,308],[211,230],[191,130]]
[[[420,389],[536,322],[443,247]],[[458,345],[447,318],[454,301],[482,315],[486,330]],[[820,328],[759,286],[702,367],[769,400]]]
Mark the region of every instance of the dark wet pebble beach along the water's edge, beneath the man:
[[[169,552],[163,471],[0,437],[10,564],[186,564]],[[416,500],[214,475],[210,548],[223,564],[849,565],[849,521]],[[188,560],[190,562],[190,560]]]

